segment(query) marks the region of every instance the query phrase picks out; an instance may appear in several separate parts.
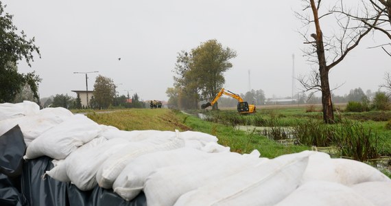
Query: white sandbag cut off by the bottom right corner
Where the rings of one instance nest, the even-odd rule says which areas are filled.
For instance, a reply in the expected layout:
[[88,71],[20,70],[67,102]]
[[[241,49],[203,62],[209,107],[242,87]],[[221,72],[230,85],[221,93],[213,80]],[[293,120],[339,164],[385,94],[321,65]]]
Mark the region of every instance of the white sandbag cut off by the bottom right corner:
[[373,205],[391,205],[390,182],[365,182],[352,185],[359,196],[367,198]]

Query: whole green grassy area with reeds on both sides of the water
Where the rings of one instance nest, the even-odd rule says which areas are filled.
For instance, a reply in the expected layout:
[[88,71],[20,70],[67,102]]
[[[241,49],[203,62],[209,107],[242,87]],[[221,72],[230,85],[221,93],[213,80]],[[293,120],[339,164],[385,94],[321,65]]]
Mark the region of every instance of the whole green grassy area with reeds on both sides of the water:
[[[198,113],[204,113],[207,117],[213,118],[206,121],[198,118],[196,115]],[[375,151],[376,159],[391,156],[391,130],[388,127],[391,112],[343,113],[336,111],[335,119],[340,119],[338,120],[340,123],[331,126],[322,124],[322,113],[319,106],[311,106],[311,108],[309,106],[265,107],[258,109],[254,115],[238,115],[235,110],[227,108],[213,112],[188,111],[188,113],[167,108],[132,108],[104,112],[87,111],[86,115],[99,124],[115,126],[120,130],[178,129],[209,133],[219,139],[219,144],[229,146],[233,152],[249,153],[256,149],[261,152],[262,157],[268,158],[311,150],[313,139],[309,139],[310,144],[301,141],[299,144],[279,144],[278,140],[266,137],[257,130],[239,130],[238,126],[239,128],[246,125],[297,128],[303,125],[311,129],[309,133],[306,131],[303,133],[315,139],[323,138],[328,141],[327,135],[335,136],[336,133],[348,136],[347,139],[337,139],[339,147],[335,145],[318,146],[318,150],[329,152],[334,157],[360,159],[362,153],[368,153],[372,150]],[[281,135],[280,133],[278,135]],[[346,147],[359,153],[342,153]],[[388,162],[386,167],[390,169],[390,161],[388,160]],[[387,170],[383,172],[390,175]]]

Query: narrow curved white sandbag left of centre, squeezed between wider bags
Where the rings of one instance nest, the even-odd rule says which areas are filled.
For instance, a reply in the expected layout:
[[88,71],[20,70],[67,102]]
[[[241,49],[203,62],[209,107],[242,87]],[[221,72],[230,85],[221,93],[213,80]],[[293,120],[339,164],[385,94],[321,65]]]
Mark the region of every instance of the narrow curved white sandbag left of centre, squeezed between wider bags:
[[[147,143],[137,147],[125,147],[112,157],[108,158],[99,168],[97,172],[97,183],[100,187],[109,189],[112,187],[117,176],[122,172],[123,168],[132,161],[132,159],[151,152],[174,150],[185,146],[185,142],[180,137],[176,137],[176,133],[171,135],[171,139],[164,142],[164,138],[148,139],[145,141],[135,141],[133,143]],[[162,142],[163,141],[163,142]]]

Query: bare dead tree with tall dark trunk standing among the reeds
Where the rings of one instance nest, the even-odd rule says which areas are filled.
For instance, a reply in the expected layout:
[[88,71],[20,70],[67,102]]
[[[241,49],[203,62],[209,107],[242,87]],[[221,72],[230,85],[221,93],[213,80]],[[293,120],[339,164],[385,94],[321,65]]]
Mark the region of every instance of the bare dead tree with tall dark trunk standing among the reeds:
[[[380,15],[377,16],[375,21],[368,21],[369,25],[366,25],[366,23],[361,21],[352,21],[351,16],[340,15],[340,12],[333,12],[333,10],[327,10],[324,14],[319,14],[321,0],[303,0],[303,2],[303,5],[305,5],[303,12],[311,10],[311,14],[296,12],[296,16],[303,21],[303,25],[307,28],[306,32],[300,32],[300,34],[305,39],[305,44],[311,45],[311,47],[303,50],[303,52],[309,62],[318,66],[318,73],[315,76],[318,80],[310,81],[310,84],[303,84],[308,83],[305,81],[300,81],[300,83],[306,89],[317,88],[322,92],[323,121],[324,123],[332,124],[334,122],[334,114],[329,85],[329,71],[342,62],[347,54],[359,45],[362,38],[372,30],[372,25],[376,25]],[[333,16],[333,22],[337,26],[336,32],[327,36],[323,34],[320,27],[320,20],[326,16]],[[308,35],[311,25],[314,25],[313,29],[315,29],[316,33]],[[318,82],[320,82],[320,85]]]

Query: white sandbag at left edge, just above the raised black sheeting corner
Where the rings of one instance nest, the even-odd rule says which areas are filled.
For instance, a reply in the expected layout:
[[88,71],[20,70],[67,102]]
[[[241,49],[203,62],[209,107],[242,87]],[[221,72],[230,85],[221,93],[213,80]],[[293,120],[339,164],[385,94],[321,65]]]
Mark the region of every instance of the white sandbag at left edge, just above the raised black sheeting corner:
[[8,122],[4,125],[19,124],[25,139],[25,143],[27,146],[29,146],[29,144],[34,139],[72,116],[73,113],[71,113],[71,111],[67,110],[66,108],[44,108],[40,110],[39,113],[34,115],[27,115],[0,121],[0,133],[2,133],[2,128],[4,127],[3,122]]

